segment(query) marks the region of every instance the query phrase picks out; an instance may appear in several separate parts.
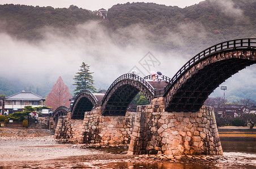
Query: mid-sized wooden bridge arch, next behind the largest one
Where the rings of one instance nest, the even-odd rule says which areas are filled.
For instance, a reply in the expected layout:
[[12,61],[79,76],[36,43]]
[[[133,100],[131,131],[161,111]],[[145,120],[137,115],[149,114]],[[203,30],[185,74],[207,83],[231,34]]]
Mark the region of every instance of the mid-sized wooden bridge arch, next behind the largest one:
[[123,74],[108,88],[101,104],[103,115],[125,115],[133,98],[141,91],[149,101],[155,95],[146,79],[136,74]]

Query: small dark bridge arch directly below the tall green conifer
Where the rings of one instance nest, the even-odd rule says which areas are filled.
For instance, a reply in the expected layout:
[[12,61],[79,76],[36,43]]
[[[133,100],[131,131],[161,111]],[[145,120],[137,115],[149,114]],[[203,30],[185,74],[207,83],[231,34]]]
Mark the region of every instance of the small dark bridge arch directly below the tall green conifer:
[[93,107],[98,105],[96,96],[89,90],[84,89],[75,97],[71,108],[72,119],[83,119],[84,112],[91,112]]

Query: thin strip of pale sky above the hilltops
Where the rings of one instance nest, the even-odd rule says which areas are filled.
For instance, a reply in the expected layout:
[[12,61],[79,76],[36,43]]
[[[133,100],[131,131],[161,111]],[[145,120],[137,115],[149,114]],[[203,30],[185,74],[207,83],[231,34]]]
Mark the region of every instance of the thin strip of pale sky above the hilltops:
[[32,6],[52,6],[54,8],[63,8],[69,7],[70,5],[78,6],[79,8],[84,8],[87,10],[95,11],[100,8],[111,8],[113,5],[117,3],[127,3],[127,2],[153,2],[166,6],[178,6],[184,8],[186,6],[191,6],[199,3],[203,0],[155,0],[155,1],[116,1],[116,0],[1,0],[0,4],[20,4],[20,5],[32,5]]

